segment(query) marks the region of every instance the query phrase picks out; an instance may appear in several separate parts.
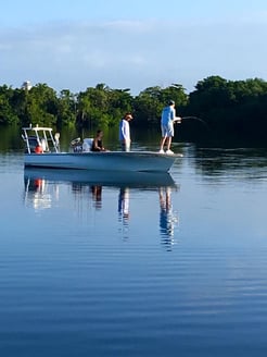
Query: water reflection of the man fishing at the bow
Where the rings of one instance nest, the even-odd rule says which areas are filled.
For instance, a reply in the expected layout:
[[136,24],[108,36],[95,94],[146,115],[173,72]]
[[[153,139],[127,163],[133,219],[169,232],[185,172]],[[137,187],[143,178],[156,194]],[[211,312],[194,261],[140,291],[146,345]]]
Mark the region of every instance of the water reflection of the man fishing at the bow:
[[160,229],[162,244],[166,245],[168,250],[171,250],[174,245],[175,223],[177,222],[173,212],[170,194],[170,187],[160,188]]

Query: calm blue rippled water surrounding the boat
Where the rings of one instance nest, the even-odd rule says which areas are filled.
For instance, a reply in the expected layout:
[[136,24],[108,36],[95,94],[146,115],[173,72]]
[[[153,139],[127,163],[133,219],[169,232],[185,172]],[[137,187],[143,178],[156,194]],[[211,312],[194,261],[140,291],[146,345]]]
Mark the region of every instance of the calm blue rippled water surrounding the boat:
[[266,356],[267,151],[175,150],[125,180],[0,155],[1,356]]

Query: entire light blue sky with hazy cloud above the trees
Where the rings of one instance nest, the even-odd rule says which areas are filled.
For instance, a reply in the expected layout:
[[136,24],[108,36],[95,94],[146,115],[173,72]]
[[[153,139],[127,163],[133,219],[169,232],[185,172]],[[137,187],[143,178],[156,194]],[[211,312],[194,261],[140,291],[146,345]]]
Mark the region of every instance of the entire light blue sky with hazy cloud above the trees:
[[0,85],[56,91],[267,81],[266,0],[12,0],[0,11]]

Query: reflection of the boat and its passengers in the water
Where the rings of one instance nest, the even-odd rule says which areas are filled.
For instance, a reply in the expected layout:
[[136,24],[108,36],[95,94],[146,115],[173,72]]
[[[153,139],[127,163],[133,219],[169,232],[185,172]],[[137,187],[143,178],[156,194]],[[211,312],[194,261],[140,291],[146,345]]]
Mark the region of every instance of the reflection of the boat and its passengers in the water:
[[[169,173],[112,172],[84,170],[25,169],[25,202],[35,210],[50,209],[62,198],[63,184],[72,187],[75,198],[90,195],[96,210],[102,209],[104,187],[118,188],[117,212],[120,233],[129,236],[130,195],[136,190],[155,190],[160,201],[160,233],[162,244],[171,249],[178,218],[173,211],[171,189],[177,185]],[[66,185],[64,185],[67,187]]]

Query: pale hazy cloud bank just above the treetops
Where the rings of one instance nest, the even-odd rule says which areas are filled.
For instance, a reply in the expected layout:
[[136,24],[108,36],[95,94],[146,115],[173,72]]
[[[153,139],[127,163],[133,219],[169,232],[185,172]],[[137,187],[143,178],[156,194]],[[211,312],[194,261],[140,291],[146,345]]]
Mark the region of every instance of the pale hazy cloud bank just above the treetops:
[[192,90],[208,75],[266,76],[267,24],[114,21],[1,29],[0,77],[80,91],[98,83],[130,88],[180,83]]

